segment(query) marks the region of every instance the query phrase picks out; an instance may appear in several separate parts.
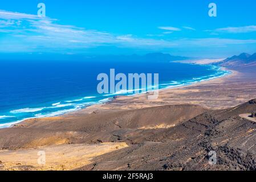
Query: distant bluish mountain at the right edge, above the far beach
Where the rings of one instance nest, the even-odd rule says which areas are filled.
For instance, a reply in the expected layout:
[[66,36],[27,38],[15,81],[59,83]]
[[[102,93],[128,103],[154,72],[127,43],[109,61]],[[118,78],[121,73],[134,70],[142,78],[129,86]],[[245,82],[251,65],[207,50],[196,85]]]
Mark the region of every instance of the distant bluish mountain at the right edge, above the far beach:
[[229,57],[217,64],[227,68],[256,67],[256,53],[253,55],[241,53],[239,56]]

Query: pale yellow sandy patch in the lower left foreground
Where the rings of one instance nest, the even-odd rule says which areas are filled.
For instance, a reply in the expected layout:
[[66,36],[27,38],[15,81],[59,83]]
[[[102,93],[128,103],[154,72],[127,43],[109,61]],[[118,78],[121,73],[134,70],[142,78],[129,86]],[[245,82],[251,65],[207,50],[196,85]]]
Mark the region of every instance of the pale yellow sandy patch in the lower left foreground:
[[[72,170],[90,164],[96,156],[125,147],[128,147],[126,143],[63,144],[31,150],[0,151],[0,169],[10,171]],[[39,151],[44,151],[46,154],[45,164],[38,164]]]

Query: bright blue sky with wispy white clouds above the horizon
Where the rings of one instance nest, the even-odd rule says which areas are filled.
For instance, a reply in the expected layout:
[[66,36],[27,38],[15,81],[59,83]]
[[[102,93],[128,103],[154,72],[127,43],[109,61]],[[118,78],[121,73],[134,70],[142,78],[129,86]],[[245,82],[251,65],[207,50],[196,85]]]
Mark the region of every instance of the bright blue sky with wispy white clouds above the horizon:
[[[37,16],[41,2],[46,18]],[[217,17],[208,15],[212,2]],[[1,1],[0,53],[164,52],[208,58],[254,53],[255,7],[255,0]]]

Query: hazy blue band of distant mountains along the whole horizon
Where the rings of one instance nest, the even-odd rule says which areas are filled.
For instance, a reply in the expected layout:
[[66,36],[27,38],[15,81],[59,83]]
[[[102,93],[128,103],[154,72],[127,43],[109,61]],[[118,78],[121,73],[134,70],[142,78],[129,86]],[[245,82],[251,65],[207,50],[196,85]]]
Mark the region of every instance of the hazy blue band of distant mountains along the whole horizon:
[[[42,54],[20,54],[18,56],[11,56],[8,54],[0,54],[0,60],[82,60],[82,61],[113,61],[113,62],[178,62],[178,63],[190,63],[190,64],[202,64],[198,62],[198,58],[185,57],[185,56],[173,56],[169,53],[148,53],[145,55],[68,55],[68,54],[54,54],[54,53],[42,53]],[[256,67],[256,53],[250,55],[249,53],[241,53],[238,56],[232,56],[225,60],[216,60],[216,63],[210,62],[212,60],[205,60],[208,64],[218,65],[227,68],[254,68]],[[207,64],[207,63],[206,63]]]

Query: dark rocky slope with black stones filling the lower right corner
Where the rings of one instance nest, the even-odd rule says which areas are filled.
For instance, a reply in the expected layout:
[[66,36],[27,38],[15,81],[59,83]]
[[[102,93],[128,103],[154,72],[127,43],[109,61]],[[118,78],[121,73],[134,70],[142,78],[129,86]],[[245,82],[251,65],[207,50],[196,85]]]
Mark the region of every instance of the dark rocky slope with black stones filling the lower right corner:
[[[239,117],[255,110],[256,100],[251,100],[231,109],[206,111],[169,129],[148,130],[151,137],[141,136],[139,143],[99,156],[93,165],[80,169],[256,170],[256,122]],[[209,164],[213,151],[216,165]]]

